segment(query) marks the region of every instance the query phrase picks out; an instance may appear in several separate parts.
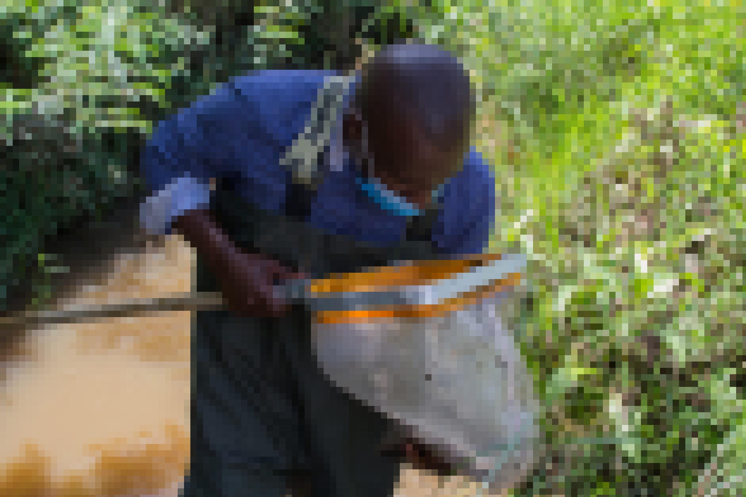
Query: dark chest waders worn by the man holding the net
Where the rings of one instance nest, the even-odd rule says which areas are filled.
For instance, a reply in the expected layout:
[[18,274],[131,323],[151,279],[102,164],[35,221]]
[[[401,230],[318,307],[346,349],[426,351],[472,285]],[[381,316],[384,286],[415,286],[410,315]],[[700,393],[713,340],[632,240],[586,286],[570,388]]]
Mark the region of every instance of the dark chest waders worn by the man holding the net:
[[[434,257],[427,227],[380,250],[259,212],[221,188],[214,198],[233,241],[313,276]],[[219,289],[199,259],[197,288]],[[280,497],[296,477],[315,497],[392,495],[401,460],[379,445],[395,426],[319,370],[304,308],[280,319],[200,311],[194,320],[186,497]]]

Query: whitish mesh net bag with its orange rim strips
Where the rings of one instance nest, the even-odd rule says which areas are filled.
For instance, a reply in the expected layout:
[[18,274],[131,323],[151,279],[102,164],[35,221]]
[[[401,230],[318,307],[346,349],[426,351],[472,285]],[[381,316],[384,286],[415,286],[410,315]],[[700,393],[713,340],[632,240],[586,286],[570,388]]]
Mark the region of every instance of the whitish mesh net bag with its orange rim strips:
[[[499,312],[521,274],[451,291],[495,259],[404,263],[312,290],[354,301],[315,313],[313,344],[329,379],[499,490],[527,475],[539,435],[533,381]],[[406,299],[380,298],[392,293]]]

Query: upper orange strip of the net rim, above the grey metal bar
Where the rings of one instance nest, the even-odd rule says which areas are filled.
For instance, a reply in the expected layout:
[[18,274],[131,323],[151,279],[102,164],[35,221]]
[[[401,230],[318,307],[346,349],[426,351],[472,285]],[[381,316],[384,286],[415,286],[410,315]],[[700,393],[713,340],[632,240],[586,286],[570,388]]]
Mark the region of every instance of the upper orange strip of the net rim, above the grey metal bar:
[[336,274],[325,279],[313,279],[310,291],[315,294],[386,291],[392,287],[427,285],[501,258],[500,254],[479,254],[464,259],[416,261],[408,265],[383,266],[360,273]]

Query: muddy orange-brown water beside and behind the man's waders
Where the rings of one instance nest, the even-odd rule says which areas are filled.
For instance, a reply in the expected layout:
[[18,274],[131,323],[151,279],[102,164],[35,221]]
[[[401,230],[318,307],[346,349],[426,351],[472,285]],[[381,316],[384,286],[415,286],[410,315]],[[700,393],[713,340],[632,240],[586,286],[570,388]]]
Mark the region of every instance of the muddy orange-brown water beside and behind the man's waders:
[[[193,262],[173,236],[119,256],[60,305],[189,291]],[[30,332],[3,364],[0,497],[175,497],[189,456],[189,324],[189,312],[170,312]],[[475,482],[407,465],[395,491],[479,495]]]

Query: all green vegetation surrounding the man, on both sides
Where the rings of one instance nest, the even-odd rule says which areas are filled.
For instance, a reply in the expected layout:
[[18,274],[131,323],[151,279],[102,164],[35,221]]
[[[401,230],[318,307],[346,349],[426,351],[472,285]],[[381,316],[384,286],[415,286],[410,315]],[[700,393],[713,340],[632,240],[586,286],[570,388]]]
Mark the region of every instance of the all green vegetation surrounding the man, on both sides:
[[515,495],[742,496],[746,7],[728,1],[5,0],[0,303],[43,306],[60,233],[145,194],[157,121],[249,69],[456,51],[495,165],[492,241],[546,451]]

